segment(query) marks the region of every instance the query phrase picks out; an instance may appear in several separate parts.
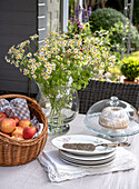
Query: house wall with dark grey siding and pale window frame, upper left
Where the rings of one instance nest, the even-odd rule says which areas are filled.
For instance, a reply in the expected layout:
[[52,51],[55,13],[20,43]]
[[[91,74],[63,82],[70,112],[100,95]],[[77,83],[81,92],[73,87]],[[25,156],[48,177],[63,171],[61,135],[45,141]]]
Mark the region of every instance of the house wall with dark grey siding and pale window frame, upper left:
[[11,46],[34,33],[41,46],[47,31],[59,31],[61,22],[61,30],[66,31],[68,4],[69,0],[0,0],[0,92],[38,92],[36,83],[6,62],[4,57]]

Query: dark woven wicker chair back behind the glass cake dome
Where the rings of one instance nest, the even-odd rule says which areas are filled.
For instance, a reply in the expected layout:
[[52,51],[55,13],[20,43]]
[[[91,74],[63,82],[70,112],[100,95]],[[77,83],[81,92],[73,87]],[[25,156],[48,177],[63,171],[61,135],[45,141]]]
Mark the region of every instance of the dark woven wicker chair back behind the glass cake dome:
[[139,108],[139,84],[116,83],[91,80],[86,89],[78,91],[79,112],[87,113],[88,109],[102,99],[110,99],[116,96],[120,100]]

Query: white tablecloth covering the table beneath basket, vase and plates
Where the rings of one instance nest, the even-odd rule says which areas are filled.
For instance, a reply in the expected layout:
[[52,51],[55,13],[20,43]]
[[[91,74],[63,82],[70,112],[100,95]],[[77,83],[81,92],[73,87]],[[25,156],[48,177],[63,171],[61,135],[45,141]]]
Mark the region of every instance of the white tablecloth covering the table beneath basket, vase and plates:
[[[70,133],[95,135],[83,125],[85,116],[78,115],[70,122]],[[56,149],[48,137],[44,150]],[[133,136],[128,148],[139,160],[139,135]],[[27,165],[0,167],[0,189],[139,189],[139,168],[101,176],[87,176],[59,183],[50,182],[43,167],[36,159]]]

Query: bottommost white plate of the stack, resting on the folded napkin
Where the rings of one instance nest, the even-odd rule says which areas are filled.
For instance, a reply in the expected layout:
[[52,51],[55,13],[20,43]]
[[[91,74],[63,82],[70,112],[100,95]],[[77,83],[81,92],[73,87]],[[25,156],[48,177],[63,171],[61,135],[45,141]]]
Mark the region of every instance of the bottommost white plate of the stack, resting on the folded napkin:
[[98,167],[103,167],[103,166],[109,166],[112,163],[113,159],[111,159],[110,161],[106,162],[106,163],[98,163],[98,165],[83,165],[83,163],[77,163],[77,162],[71,162],[69,160],[66,160],[63,158],[60,157],[60,159],[69,165],[72,165],[72,166],[78,166],[78,167],[95,167],[95,168],[98,168]]

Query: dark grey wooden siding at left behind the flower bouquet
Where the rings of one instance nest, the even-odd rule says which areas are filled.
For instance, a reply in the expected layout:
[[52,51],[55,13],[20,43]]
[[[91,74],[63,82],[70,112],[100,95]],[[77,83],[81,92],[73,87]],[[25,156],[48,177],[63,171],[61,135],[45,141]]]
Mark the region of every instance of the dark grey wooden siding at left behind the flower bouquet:
[[[6,62],[8,49],[38,30],[37,0],[0,0],[0,91],[28,92],[29,79]],[[31,93],[37,92],[31,81]]]

